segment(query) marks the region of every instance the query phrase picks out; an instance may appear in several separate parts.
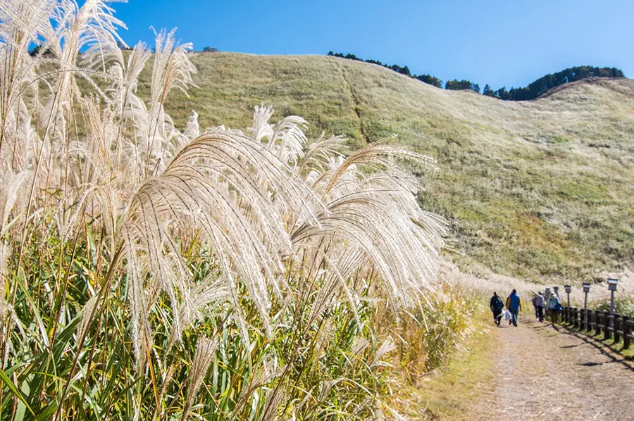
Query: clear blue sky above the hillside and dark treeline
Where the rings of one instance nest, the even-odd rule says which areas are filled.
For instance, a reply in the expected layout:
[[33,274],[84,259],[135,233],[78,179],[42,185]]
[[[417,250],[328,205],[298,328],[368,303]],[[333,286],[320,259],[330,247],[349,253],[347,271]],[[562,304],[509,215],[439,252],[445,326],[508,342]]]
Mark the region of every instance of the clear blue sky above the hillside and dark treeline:
[[634,1],[130,0],[113,4],[128,44],[178,27],[194,49],[251,54],[332,50],[408,65],[443,81],[520,87],[574,65],[634,77]]

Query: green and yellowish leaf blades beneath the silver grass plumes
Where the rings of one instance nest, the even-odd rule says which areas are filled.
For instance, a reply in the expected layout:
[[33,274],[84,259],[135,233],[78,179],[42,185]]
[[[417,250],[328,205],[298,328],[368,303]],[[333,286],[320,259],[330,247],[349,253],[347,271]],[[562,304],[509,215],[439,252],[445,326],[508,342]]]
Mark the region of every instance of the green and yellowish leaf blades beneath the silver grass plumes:
[[[11,343],[28,349],[29,358],[0,372],[4,382],[0,420],[12,419],[16,397],[28,411],[25,420],[35,419],[29,416],[31,410],[38,419],[52,417],[62,400],[64,408],[84,420],[132,419],[135,413],[147,420],[180,419],[192,373],[191,356],[203,335],[212,335],[218,345],[205,386],[191,409],[197,417],[259,420],[271,405],[281,403],[285,413],[297,419],[349,420],[352,414],[352,419],[365,419],[376,410],[368,393],[387,411],[399,398],[394,394],[395,382],[407,382],[444,363],[471,326],[473,302],[458,291],[445,288],[430,295],[431,305],[416,313],[416,321],[407,313],[396,320],[392,310],[374,304],[380,301],[371,299],[375,284],[370,281],[361,290],[366,300],[356,308],[341,302],[317,318],[311,318],[312,303],[276,301],[271,314],[282,315],[287,322],[280,323],[271,337],[263,332],[263,319],[242,289],[242,310],[247,323],[256,328],[249,332],[250,346],[242,341],[237,322],[227,318],[228,308],[218,308],[170,351],[168,334],[161,332],[151,348],[156,358],[145,361],[147,375],[143,375],[130,349],[130,312],[125,305],[130,286],[124,273],[117,275],[120,286],[102,296],[104,311],[89,320],[82,341],[93,280],[107,268],[103,261],[90,258],[103,239],[88,226],[84,230],[77,238],[88,239],[87,243],[61,243],[51,237],[44,248],[33,239],[25,249],[27,272],[37,268],[41,276],[29,277],[30,289],[20,289],[15,299],[16,317],[27,331],[16,329]],[[198,277],[214,270],[201,244],[194,242],[187,249]],[[73,280],[66,294],[46,293],[47,285],[64,279]],[[165,297],[160,307],[161,312],[151,315],[151,325],[163,325],[163,318],[173,317]],[[39,308],[39,315],[34,308]],[[39,339],[37,318],[54,343],[52,348]],[[271,358],[283,361],[285,370],[268,372]]]

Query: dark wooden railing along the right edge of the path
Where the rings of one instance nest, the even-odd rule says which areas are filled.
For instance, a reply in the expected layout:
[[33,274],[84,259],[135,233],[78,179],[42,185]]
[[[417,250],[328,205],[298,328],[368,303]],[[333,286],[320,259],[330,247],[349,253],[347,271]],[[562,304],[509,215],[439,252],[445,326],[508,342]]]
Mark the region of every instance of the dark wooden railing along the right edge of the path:
[[627,315],[610,315],[607,311],[588,310],[576,307],[564,307],[559,314],[559,322],[578,328],[588,334],[603,333],[603,340],[612,339],[614,344],[623,341],[623,349],[630,347],[634,341],[634,320]]

